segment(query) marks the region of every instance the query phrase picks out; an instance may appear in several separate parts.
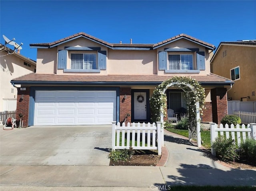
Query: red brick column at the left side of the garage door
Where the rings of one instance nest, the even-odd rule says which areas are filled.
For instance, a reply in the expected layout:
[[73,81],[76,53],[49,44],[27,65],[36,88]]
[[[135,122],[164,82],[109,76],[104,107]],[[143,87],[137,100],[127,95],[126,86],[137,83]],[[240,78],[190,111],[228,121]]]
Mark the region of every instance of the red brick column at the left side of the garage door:
[[[28,127],[29,93],[29,87],[26,87],[26,90],[18,88],[16,119],[17,121],[20,120],[19,113],[24,115],[23,127]],[[23,95],[23,99],[21,99],[21,95]]]

